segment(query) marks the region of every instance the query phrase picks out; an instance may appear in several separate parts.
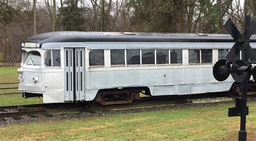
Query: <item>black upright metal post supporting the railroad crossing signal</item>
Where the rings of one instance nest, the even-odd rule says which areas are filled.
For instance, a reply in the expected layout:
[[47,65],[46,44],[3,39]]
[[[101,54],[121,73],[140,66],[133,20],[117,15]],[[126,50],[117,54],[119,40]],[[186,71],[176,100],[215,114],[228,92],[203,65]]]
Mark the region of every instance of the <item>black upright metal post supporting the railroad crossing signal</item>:
[[239,141],[246,140],[246,113],[247,113],[247,90],[248,90],[248,75],[246,75],[246,78],[244,81],[242,81],[242,97],[241,97],[241,120],[240,120],[240,131],[238,135]]

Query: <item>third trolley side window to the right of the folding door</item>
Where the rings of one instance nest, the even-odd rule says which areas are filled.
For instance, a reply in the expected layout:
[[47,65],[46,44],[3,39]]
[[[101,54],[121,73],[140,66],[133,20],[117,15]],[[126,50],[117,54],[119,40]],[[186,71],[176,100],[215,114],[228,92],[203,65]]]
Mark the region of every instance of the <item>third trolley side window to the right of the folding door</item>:
[[139,50],[126,50],[127,65],[140,65]]

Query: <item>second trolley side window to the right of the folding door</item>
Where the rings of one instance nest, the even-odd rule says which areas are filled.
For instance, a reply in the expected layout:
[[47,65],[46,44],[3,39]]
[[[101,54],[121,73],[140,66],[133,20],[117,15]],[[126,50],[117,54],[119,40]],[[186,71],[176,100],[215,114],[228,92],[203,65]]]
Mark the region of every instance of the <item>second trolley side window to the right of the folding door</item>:
[[124,50],[111,50],[111,65],[124,65]]

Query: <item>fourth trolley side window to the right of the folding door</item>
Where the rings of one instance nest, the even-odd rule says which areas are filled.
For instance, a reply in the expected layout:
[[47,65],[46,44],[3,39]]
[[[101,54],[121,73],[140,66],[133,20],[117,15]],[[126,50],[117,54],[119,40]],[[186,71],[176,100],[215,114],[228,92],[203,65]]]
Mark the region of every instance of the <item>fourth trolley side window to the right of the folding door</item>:
[[154,50],[142,50],[142,64],[154,64]]

